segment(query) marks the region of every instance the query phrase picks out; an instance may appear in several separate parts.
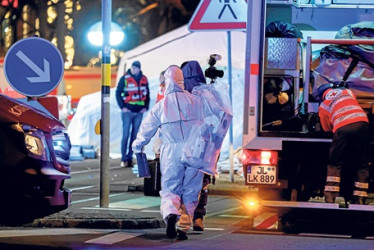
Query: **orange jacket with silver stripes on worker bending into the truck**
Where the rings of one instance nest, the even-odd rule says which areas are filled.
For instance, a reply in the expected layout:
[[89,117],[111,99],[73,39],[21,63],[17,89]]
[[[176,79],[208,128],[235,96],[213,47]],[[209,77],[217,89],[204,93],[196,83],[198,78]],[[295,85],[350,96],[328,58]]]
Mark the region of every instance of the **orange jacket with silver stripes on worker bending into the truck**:
[[318,113],[325,131],[335,132],[351,123],[369,122],[356,96],[345,88],[327,89]]

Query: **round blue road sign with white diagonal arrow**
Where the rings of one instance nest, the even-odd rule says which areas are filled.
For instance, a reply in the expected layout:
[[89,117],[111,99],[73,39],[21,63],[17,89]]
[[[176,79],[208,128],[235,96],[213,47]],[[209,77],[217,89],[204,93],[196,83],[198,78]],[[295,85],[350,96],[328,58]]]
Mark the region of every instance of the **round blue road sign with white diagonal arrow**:
[[25,38],[10,47],[4,60],[4,73],[14,90],[25,96],[43,96],[60,83],[64,61],[48,40]]

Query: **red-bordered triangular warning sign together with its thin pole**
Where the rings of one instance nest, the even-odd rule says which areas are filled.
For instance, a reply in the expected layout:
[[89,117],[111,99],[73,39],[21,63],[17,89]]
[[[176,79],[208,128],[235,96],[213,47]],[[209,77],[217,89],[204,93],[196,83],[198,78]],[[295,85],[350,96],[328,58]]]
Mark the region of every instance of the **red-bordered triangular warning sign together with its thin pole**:
[[[202,0],[196,8],[188,29],[190,31],[226,31],[228,54],[229,95],[232,103],[231,31],[245,30],[247,23],[246,0]],[[243,51],[245,53],[245,51]],[[230,181],[234,182],[233,125],[229,129]]]

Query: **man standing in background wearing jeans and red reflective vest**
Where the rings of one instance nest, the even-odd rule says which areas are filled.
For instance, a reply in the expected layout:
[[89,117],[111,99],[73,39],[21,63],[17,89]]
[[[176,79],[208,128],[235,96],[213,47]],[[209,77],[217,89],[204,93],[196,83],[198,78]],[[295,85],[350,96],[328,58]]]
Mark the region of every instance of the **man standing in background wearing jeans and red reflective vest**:
[[116,89],[116,100],[122,111],[121,167],[132,167],[131,145],[150,101],[148,79],[143,75],[139,61],[134,61],[131,68],[120,78]]

